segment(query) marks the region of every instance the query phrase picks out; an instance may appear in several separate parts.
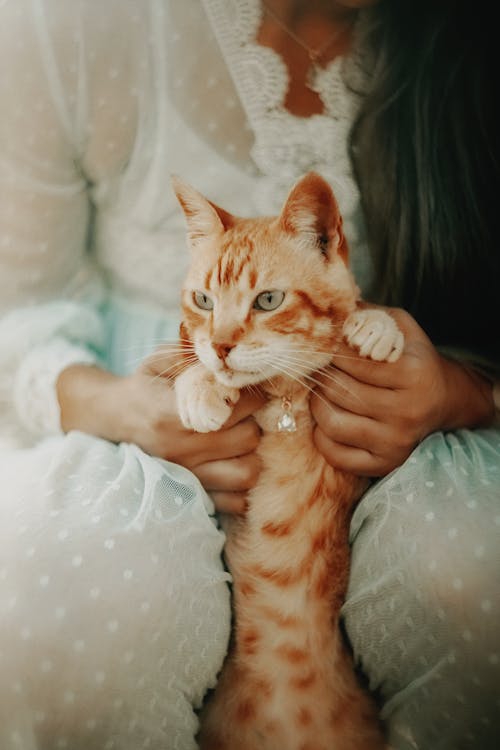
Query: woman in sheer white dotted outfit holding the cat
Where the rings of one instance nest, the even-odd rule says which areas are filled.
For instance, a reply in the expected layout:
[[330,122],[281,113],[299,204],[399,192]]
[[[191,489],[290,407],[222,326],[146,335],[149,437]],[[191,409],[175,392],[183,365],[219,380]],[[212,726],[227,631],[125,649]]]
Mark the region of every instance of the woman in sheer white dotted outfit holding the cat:
[[252,215],[311,168],[365,298],[410,313],[397,367],[339,352],[345,392],[312,402],[332,463],[396,469],[353,519],[347,633],[393,747],[493,747],[498,162],[488,29],[466,20],[384,0],[1,4],[2,748],[195,747],[229,631],[202,486],[242,509],[259,402],[186,433],[175,351],[148,357],[176,337],[185,268],[169,174]]

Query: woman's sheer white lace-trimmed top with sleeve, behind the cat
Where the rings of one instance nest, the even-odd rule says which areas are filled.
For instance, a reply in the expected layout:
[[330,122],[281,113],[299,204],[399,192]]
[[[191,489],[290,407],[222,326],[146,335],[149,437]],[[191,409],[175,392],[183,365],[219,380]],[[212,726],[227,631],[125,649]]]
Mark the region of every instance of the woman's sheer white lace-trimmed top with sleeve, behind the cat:
[[343,68],[317,76],[324,114],[284,108],[287,69],[256,43],[259,0],[0,0],[0,409],[27,440],[59,429],[54,383],[91,362],[110,288],[177,311],[179,174],[240,215],[279,210],[316,169],[369,274]]

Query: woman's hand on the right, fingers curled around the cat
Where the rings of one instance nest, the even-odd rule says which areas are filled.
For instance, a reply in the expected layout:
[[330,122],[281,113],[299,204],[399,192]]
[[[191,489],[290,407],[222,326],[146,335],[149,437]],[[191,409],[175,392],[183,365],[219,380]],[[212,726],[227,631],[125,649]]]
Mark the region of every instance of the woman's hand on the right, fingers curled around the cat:
[[488,381],[441,356],[404,310],[385,309],[405,336],[400,359],[374,362],[342,344],[311,399],[318,449],[362,476],[388,474],[435,430],[476,427],[494,413]]

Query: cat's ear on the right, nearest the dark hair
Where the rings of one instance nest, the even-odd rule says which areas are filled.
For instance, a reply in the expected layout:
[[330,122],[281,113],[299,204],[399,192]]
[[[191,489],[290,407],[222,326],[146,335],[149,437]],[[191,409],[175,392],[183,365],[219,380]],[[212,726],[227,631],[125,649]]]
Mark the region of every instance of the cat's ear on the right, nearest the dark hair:
[[290,191],[279,218],[285,232],[305,247],[315,247],[326,257],[338,253],[347,262],[347,242],[342,217],[328,182],[308,172]]

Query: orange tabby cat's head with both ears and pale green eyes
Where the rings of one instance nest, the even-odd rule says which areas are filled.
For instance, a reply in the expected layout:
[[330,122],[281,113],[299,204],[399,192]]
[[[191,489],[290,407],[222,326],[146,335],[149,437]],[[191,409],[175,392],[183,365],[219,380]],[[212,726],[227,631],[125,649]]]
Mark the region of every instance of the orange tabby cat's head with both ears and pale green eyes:
[[309,173],[279,217],[239,219],[174,178],[192,257],[183,330],[223,384],[278,375],[297,380],[325,366],[358,289],[331,188]]

